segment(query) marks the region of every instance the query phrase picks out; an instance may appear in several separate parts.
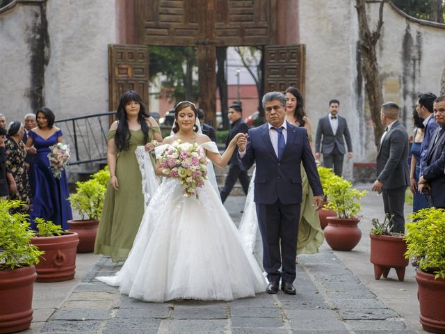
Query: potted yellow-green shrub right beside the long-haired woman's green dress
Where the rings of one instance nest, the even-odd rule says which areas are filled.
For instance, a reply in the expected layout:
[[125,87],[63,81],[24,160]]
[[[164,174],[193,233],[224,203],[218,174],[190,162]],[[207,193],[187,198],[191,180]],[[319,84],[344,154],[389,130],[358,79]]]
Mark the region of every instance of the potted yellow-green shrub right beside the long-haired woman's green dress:
[[76,193],[68,200],[80,216],[80,220],[67,221],[70,231],[79,234],[78,253],[91,253],[95,248],[95,240],[99,219],[104,208],[106,184],[110,178],[107,170],[99,170],[86,182],[76,182]]

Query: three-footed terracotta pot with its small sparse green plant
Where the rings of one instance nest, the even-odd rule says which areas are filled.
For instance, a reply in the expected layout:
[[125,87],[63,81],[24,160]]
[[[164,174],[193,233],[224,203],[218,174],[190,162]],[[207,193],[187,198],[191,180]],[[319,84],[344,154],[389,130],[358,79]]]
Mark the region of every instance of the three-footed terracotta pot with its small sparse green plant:
[[378,218],[372,219],[373,228],[369,233],[371,238],[371,255],[369,260],[374,265],[374,277],[376,280],[387,278],[391,268],[396,269],[398,280],[405,279],[405,269],[408,260],[405,258],[407,250],[405,239],[401,233],[391,232],[393,219],[385,216],[380,222]]

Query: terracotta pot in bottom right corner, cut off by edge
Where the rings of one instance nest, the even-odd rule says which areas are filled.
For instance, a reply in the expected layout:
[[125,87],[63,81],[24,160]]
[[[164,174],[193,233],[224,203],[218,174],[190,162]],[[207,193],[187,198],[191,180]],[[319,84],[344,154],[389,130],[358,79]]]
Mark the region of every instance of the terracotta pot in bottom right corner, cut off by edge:
[[420,305],[420,322],[425,331],[445,333],[445,280],[418,269],[416,281],[419,285],[417,298]]

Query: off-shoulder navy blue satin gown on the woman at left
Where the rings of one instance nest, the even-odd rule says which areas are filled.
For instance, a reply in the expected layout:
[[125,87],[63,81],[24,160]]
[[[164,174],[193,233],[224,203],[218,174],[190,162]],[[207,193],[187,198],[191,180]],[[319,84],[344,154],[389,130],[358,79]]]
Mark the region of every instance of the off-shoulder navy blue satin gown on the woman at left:
[[33,144],[37,152],[33,157],[33,164],[29,169],[31,174],[31,195],[33,198],[33,210],[31,212],[31,228],[37,230],[34,218],[40,217],[61,225],[67,230],[67,221],[72,219],[71,205],[67,200],[70,196],[68,190],[67,175],[65,170],[60,179],[56,179],[49,168],[49,147],[57,143],[57,138],[62,136],[59,130],[55,134],[44,139],[35,132],[30,131]]

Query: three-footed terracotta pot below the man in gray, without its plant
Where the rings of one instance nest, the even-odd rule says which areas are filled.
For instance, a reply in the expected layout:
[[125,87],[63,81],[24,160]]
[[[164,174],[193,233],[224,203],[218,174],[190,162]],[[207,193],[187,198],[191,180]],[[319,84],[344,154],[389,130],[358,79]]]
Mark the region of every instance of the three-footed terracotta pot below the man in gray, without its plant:
[[370,233],[371,256],[370,261],[374,264],[374,277],[387,278],[391,268],[396,269],[398,280],[405,279],[405,269],[408,259],[405,259],[406,242],[398,235],[378,235]]

